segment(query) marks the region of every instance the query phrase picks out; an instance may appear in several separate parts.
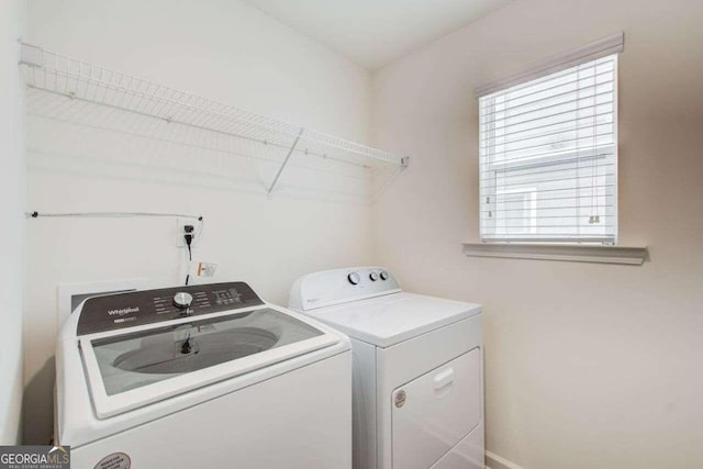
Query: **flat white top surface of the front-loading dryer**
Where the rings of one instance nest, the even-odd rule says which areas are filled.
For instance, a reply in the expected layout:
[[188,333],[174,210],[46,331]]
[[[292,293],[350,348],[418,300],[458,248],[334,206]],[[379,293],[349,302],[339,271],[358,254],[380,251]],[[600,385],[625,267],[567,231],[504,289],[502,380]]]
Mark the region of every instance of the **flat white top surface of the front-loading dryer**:
[[321,308],[305,314],[349,337],[390,347],[480,312],[479,304],[401,292]]

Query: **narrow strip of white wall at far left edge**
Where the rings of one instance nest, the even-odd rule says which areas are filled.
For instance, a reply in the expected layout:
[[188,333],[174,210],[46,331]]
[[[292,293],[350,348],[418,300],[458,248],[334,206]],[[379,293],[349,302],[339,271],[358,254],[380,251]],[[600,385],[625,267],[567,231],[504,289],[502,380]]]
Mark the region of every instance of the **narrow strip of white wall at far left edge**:
[[0,445],[21,439],[22,233],[24,227],[24,111],[18,40],[24,27],[21,1],[0,2]]

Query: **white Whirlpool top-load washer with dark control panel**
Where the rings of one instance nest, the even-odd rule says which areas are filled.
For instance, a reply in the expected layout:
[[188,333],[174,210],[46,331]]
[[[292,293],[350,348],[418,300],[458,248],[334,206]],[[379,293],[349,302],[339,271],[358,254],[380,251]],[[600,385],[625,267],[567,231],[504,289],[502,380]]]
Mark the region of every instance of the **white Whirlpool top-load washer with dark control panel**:
[[88,299],[56,350],[75,468],[350,468],[346,336],[243,282]]

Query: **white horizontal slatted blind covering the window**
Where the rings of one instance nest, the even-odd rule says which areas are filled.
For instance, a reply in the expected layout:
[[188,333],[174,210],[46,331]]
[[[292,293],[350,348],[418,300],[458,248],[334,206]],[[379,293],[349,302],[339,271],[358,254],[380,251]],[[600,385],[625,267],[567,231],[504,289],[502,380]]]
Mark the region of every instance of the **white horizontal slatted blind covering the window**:
[[617,55],[479,98],[483,242],[615,244]]

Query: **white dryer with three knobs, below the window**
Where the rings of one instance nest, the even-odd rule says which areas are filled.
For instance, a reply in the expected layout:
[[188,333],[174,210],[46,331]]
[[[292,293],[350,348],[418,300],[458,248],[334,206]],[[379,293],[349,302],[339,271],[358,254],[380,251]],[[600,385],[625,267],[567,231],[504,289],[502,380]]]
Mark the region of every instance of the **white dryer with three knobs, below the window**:
[[300,278],[289,306],[352,338],[355,468],[484,467],[480,305],[365,267]]

